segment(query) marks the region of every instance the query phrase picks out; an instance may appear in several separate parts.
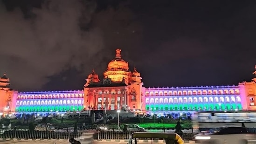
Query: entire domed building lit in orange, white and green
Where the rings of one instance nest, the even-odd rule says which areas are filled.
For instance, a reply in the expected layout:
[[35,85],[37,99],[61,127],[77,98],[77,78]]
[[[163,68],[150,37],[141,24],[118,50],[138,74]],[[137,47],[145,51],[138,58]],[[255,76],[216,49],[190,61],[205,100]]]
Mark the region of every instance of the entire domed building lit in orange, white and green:
[[[254,72],[256,74],[256,72]],[[137,69],[129,70],[121,49],[109,62],[104,78],[94,70],[83,90],[18,92],[9,79],[0,78],[0,112],[48,113],[125,109],[141,113],[175,113],[199,110],[256,110],[256,78],[233,86],[144,88]]]

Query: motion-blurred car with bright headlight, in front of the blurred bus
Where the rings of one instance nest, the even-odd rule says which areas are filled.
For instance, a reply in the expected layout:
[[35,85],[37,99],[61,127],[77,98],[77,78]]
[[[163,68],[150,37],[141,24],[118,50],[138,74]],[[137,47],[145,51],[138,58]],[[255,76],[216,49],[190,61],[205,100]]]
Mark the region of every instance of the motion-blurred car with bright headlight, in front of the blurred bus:
[[195,144],[256,144],[256,128],[212,128],[194,136]]

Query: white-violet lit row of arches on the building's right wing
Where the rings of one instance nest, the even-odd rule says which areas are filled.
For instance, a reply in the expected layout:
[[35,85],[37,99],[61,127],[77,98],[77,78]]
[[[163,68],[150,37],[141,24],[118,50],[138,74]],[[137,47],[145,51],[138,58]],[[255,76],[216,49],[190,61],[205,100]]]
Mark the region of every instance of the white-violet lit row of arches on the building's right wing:
[[165,98],[146,98],[146,103],[224,103],[224,102],[241,102],[241,98],[239,96],[231,96],[231,97],[165,97]]

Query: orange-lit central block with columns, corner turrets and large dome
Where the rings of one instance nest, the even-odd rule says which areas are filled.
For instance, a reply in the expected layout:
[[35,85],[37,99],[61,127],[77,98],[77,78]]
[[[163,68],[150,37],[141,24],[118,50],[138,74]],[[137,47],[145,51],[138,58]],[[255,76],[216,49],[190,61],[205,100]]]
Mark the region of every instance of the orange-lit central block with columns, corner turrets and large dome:
[[116,49],[115,59],[109,62],[100,81],[95,70],[88,75],[84,85],[84,105],[90,110],[144,110],[143,83],[140,73],[129,70],[128,62],[122,59],[121,49]]

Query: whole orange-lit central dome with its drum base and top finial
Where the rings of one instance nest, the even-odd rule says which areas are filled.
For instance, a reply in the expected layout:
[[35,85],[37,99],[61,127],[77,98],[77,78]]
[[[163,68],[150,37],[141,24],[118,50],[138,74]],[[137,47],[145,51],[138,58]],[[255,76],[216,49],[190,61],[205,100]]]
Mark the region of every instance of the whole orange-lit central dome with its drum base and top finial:
[[124,79],[128,81],[131,77],[128,62],[121,57],[121,49],[116,49],[116,57],[110,61],[108,68],[103,73],[104,78],[111,78],[112,82],[122,82]]

